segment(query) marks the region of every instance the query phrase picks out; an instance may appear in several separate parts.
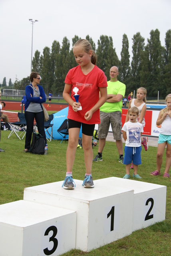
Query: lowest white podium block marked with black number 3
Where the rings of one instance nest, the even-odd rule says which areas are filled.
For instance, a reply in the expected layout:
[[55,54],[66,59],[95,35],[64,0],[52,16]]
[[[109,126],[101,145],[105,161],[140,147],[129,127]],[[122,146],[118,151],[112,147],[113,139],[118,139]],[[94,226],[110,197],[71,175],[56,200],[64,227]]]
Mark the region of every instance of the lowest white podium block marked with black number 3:
[[76,212],[24,200],[0,205],[0,256],[57,256],[75,243]]

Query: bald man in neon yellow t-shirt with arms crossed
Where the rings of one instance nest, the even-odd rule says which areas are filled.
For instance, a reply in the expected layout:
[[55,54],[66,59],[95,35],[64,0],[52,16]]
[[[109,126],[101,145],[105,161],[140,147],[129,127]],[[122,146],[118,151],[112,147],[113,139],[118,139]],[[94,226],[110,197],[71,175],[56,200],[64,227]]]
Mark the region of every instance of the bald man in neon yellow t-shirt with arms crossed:
[[119,152],[119,162],[123,164],[121,114],[122,98],[125,96],[126,86],[117,80],[118,75],[118,68],[116,66],[111,67],[110,81],[107,82],[107,101],[100,108],[100,124],[97,136],[99,138],[98,154],[93,159],[93,162],[103,161],[102,151],[111,124],[113,139],[116,140],[116,146]]

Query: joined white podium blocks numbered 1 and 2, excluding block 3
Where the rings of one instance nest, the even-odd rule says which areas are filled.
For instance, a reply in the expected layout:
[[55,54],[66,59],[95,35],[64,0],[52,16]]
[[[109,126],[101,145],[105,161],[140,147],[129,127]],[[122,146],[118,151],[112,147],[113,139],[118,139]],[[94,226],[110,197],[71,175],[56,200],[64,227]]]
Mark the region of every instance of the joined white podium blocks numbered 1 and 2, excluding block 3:
[[165,219],[166,187],[110,177],[74,190],[62,182],[24,189],[24,200],[76,210],[76,248],[90,251]]

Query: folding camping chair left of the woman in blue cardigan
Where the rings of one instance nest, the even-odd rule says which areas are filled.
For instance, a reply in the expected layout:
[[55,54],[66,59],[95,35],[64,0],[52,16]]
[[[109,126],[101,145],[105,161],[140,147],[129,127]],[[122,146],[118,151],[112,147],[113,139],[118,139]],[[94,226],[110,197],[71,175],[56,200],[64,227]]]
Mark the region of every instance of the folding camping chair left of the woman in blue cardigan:
[[[8,138],[10,138],[12,134],[16,134],[17,138],[22,140],[26,135],[26,127],[27,127],[24,113],[18,112],[18,122],[8,123],[8,124],[10,125],[10,128],[11,128],[11,132]],[[22,134],[24,135],[22,136]]]

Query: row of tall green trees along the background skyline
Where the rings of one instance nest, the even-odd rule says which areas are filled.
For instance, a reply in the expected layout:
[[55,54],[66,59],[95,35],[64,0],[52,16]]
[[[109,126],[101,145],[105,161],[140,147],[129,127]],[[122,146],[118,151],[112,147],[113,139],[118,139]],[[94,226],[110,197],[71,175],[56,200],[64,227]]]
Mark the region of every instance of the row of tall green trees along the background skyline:
[[[78,36],[72,38],[72,46],[78,41]],[[132,38],[132,59],[130,62],[129,42],[123,34],[121,59],[119,60],[111,36],[101,35],[95,42],[89,35],[86,39],[91,43],[92,49],[97,54],[97,66],[105,72],[109,80],[111,66],[119,68],[118,80],[126,85],[126,96],[139,87],[147,89],[148,97],[157,97],[158,91],[161,98],[171,93],[171,30],[165,34],[165,46],[161,46],[160,32],[151,30],[150,38],[145,39],[137,32]],[[70,42],[64,37],[62,45],[58,41],[52,43],[51,49],[45,47],[43,54],[36,50],[32,60],[32,71],[40,73],[41,84],[46,94],[52,91],[53,95],[62,94],[66,74],[76,66],[76,61]],[[14,82],[14,89],[25,90],[29,84],[29,77]]]

